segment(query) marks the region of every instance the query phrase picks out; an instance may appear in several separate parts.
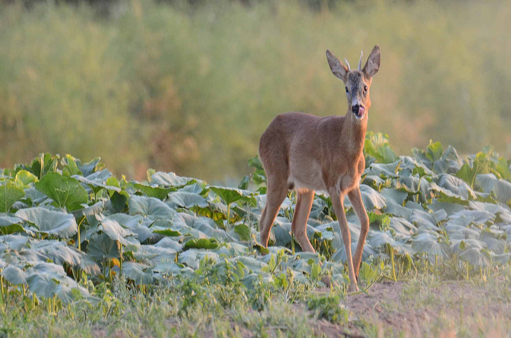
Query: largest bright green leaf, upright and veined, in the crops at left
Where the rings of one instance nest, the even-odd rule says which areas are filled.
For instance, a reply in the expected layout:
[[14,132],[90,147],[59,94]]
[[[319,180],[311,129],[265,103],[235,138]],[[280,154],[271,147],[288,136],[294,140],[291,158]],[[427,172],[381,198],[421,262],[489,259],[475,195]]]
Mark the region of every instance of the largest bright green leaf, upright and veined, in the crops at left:
[[48,173],[35,183],[35,187],[51,198],[54,205],[67,210],[79,209],[80,204],[87,203],[87,192],[80,183],[58,173]]

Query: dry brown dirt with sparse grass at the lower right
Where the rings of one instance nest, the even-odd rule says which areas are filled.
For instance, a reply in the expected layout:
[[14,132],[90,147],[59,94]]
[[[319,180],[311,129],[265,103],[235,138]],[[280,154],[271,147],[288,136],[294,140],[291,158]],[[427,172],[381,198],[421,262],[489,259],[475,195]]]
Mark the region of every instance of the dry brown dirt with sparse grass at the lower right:
[[[316,293],[327,294],[330,289],[320,288]],[[308,321],[307,327],[314,335],[332,338],[511,336],[509,281],[502,280],[491,285],[464,281],[438,282],[432,285],[419,281],[384,281],[374,284],[368,294],[349,295],[342,301],[350,313],[347,325],[310,318],[304,304],[293,304],[291,311],[304,315],[303,321]],[[188,334],[180,334],[181,324],[176,319],[167,319],[165,326],[169,330],[176,328],[177,336],[187,336]],[[242,322],[235,322],[233,319],[229,319],[224,326],[220,328],[222,332],[218,331],[219,328],[200,330],[200,336],[260,336],[247,329]],[[280,336],[277,331],[286,332],[290,329],[266,326],[264,332],[269,333],[269,336]],[[120,329],[107,332],[105,328],[97,327],[92,332],[98,337],[127,336]],[[149,336],[141,334],[140,337]]]

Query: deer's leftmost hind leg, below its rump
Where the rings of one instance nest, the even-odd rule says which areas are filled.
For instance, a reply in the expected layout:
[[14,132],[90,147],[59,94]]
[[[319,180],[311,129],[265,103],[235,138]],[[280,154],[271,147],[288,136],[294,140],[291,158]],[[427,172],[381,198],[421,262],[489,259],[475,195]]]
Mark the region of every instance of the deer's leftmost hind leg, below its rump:
[[268,238],[273,222],[281,208],[282,202],[286,199],[288,192],[287,180],[271,180],[268,178],[266,190],[266,204],[259,221],[259,232],[261,235],[261,244],[267,248]]

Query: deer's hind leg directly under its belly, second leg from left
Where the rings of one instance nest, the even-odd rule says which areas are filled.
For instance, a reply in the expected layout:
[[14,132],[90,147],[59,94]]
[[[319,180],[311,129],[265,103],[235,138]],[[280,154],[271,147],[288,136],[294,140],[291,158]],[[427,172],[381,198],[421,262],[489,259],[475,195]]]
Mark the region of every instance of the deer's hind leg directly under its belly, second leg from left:
[[296,207],[294,209],[291,232],[304,251],[316,252],[307,237],[307,220],[311,212],[314,190],[300,190],[296,192]]

